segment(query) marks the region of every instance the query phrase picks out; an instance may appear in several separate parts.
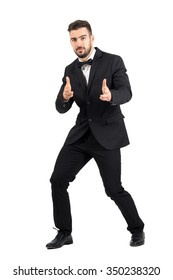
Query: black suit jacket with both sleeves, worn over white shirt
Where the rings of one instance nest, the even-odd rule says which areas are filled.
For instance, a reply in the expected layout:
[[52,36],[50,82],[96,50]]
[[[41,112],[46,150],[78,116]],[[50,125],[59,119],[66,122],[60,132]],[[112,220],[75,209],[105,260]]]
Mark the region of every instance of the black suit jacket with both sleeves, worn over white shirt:
[[[129,139],[120,104],[128,102],[132,93],[122,58],[96,48],[88,86],[77,62],[78,59],[66,67],[63,84],[56,99],[56,109],[60,113],[67,112],[73,102],[76,102],[80,109],[76,124],[70,130],[65,144],[75,142],[90,127],[97,141],[108,150],[128,145]],[[74,92],[68,102],[63,100],[66,76],[70,78]],[[99,99],[103,79],[107,80],[107,86],[112,93],[111,102]]]

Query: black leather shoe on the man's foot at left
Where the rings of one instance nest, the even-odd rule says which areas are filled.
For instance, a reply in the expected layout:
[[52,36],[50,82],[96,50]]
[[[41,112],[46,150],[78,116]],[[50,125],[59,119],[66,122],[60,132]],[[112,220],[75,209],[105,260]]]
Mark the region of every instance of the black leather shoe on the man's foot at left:
[[64,235],[62,232],[58,232],[55,239],[53,239],[50,243],[46,245],[47,249],[57,249],[62,247],[63,245],[69,245],[73,243],[73,239],[71,234]]

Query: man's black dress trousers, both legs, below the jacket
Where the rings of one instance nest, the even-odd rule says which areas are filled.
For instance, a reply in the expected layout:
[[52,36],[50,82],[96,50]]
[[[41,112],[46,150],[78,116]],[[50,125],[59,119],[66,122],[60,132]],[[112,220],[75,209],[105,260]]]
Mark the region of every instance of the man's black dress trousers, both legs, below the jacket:
[[72,232],[72,217],[68,195],[69,183],[90,160],[94,159],[106,194],[116,203],[131,233],[141,232],[144,223],[140,219],[131,195],[121,185],[120,149],[106,150],[90,130],[71,145],[64,145],[58,155],[50,182],[52,186],[55,226],[66,235]]

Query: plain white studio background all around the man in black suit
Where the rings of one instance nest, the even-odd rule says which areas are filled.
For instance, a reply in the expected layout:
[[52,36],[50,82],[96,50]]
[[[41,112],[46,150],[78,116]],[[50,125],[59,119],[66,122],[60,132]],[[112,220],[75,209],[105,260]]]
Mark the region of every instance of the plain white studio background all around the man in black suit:
[[[64,68],[75,59],[67,27],[76,19],[88,20],[95,46],[122,56],[128,70],[133,98],[121,108],[131,145],[122,150],[122,181],[146,224],[146,244],[139,248],[129,246],[126,224],[105,195],[94,161],[69,188],[74,244],[45,248],[56,234],[49,178],[78,113],[74,105],[60,115],[54,105]],[[169,0],[0,2],[4,279],[15,278],[18,266],[104,271],[108,266],[159,266],[156,277],[171,275],[172,26]],[[103,272],[95,278],[113,276]]]

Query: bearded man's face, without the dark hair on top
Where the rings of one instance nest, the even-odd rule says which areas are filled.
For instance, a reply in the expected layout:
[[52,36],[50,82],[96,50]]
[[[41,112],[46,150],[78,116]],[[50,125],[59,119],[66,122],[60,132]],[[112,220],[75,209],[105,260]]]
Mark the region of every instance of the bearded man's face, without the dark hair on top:
[[93,49],[94,36],[90,35],[86,27],[82,27],[70,31],[70,42],[79,58],[87,58]]

